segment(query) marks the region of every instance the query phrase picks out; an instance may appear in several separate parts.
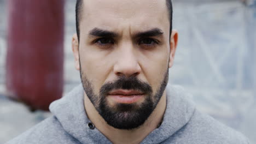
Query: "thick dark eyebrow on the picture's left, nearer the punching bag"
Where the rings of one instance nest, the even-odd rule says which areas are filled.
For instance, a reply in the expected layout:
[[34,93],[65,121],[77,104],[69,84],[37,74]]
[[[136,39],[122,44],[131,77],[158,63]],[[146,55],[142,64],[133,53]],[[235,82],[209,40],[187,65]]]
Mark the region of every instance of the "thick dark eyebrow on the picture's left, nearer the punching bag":
[[89,37],[118,37],[118,33],[107,31],[100,28],[94,28],[89,32]]

